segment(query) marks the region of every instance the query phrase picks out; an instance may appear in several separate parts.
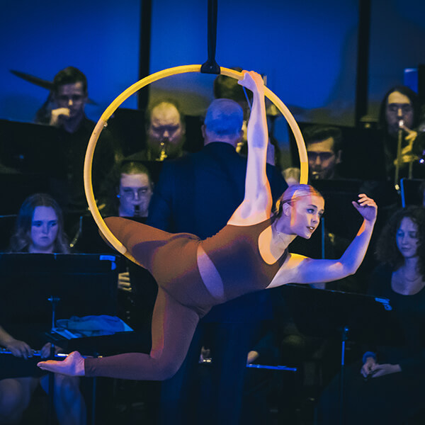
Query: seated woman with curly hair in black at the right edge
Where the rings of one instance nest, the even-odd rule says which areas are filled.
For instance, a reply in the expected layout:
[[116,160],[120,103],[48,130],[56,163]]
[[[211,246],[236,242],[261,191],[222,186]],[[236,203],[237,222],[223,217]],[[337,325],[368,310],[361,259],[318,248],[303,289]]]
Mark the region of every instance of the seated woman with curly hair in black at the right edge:
[[[394,338],[400,344],[369,347],[361,363],[348,369],[344,423],[404,424],[415,416],[423,424],[424,416],[419,419],[417,413],[425,407],[425,208],[395,212],[375,254],[380,264],[370,276],[368,292],[390,300],[399,322]],[[337,377],[324,390],[318,424],[339,423],[334,408],[338,382]]]

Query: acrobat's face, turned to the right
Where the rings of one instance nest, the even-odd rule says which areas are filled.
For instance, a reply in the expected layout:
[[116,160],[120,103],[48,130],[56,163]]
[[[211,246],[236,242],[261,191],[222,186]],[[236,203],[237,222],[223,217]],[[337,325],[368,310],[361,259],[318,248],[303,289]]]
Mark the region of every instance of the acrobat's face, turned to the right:
[[306,195],[290,204],[290,229],[293,234],[310,239],[324,212],[324,199]]

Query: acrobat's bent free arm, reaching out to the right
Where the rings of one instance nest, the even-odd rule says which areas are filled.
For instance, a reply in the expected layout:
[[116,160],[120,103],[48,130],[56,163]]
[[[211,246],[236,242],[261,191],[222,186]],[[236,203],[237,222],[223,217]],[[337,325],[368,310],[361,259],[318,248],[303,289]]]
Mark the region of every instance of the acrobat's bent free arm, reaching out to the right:
[[339,260],[316,260],[290,254],[283,263],[282,273],[279,271],[270,287],[285,283],[331,282],[356,273],[368,249],[375,225],[377,206],[373,199],[363,193],[359,195],[358,203],[353,202],[353,205],[364,217],[363,224]]

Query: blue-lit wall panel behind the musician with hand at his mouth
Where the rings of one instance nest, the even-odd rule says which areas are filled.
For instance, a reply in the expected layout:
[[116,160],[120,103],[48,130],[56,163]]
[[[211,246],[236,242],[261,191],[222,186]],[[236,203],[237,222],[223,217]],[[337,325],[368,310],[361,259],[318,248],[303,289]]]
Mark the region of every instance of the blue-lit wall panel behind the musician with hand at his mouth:
[[[81,69],[97,120],[123,89],[137,81],[139,0],[41,0],[0,3],[0,118],[33,120],[47,91],[8,70],[52,80],[64,67]],[[125,106],[136,107],[135,98]]]

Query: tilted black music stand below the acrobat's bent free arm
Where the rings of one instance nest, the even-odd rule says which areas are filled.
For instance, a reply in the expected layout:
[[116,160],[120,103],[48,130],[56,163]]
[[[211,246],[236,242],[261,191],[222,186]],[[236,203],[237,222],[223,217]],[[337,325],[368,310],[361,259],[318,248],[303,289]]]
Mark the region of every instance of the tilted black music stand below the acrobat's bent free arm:
[[341,341],[339,414],[340,424],[343,424],[346,341],[402,344],[393,336],[394,329],[398,327],[391,314],[390,301],[370,295],[292,284],[283,287],[283,297],[302,334]]

